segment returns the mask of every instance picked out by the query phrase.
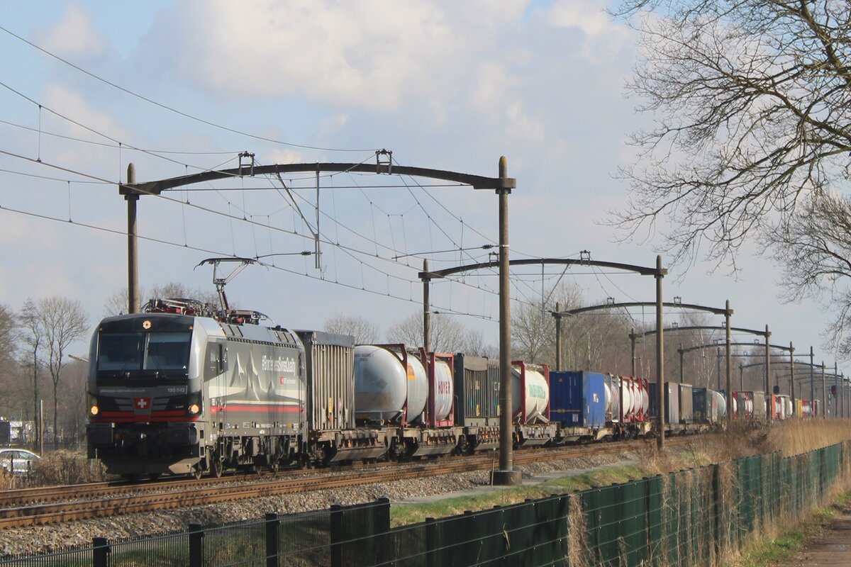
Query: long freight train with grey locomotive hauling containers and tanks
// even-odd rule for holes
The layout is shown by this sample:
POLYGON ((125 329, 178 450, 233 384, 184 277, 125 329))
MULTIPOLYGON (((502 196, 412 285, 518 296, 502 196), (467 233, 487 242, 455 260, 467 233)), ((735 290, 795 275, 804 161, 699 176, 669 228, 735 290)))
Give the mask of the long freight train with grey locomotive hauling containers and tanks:
MULTIPOLYGON (((129 479, 220 476, 495 449, 495 360, 260 324, 190 300, 100 322, 89 354, 89 458, 129 479)), ((517 447, 653 433, 654 383, 512 363, 517 447)), ((665 383, 668 433, 711 427, 724 398, 665 383)))

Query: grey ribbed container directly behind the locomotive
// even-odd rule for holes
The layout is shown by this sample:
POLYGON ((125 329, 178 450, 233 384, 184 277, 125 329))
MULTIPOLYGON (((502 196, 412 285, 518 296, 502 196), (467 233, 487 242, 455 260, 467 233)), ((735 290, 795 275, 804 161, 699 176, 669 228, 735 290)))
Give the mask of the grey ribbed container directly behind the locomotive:
POLYGON ((309 427, 355 428, 355 337, 296 332, 305 343, 309 427))

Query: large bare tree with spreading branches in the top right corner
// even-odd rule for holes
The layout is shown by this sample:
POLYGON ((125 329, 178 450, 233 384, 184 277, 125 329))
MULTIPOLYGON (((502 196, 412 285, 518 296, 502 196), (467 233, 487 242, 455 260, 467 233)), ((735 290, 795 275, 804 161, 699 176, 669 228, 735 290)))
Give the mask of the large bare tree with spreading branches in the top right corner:
POLYGON ((700 253, 736 269, 771 213, 847 179, 851 3, 623 0, 620 15, 641 34, 629 89, 655 121, 621 170, 631 201, 609 220, 625 239, 665 216, 675 263, 700 253))

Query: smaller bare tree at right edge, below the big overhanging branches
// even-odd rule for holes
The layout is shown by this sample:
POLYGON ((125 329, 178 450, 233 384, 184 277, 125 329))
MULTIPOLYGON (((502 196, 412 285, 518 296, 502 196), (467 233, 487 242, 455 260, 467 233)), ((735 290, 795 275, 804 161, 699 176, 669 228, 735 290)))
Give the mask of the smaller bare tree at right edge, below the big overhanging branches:
POLYGON ((783 267, 785 299, 824 300, 831 311, 825 338, 843 358, 851 357, 851 199, 836 193, 809 196, 765 244, 783 267))

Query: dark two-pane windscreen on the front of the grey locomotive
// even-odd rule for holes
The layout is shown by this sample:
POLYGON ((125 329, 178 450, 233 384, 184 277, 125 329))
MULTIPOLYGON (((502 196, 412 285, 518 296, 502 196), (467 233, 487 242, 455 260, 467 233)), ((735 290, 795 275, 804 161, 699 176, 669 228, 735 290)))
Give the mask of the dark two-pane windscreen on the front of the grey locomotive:
POLYGON ((184 370, 191 332, 101 333, 98 370, 184 370))

